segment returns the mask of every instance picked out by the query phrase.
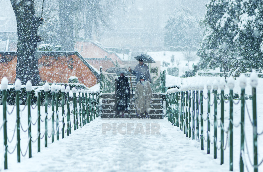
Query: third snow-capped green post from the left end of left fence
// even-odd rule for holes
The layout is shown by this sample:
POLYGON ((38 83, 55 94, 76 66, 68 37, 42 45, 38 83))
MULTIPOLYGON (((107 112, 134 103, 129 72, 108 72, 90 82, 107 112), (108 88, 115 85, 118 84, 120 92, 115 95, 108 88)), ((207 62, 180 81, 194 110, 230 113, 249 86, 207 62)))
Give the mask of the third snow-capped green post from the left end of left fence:
POLYGON ((28 155, 29 158, 32 157, 32 137, 31 137, 31 90, 32 90, 32 83, 31 81, 27 81, 26 83, 26 92, 27 92, 27 114, 28 114, 28 155))

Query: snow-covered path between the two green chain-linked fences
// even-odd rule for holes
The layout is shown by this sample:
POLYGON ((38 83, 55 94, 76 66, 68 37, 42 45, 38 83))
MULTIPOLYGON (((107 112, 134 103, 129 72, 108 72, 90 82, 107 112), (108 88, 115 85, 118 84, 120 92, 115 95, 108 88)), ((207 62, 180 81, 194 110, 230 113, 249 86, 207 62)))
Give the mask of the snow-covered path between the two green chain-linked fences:
POLYGON ((167 118, 99 117, 5 171, 228 171, 228 165, 219 165, 167 118))

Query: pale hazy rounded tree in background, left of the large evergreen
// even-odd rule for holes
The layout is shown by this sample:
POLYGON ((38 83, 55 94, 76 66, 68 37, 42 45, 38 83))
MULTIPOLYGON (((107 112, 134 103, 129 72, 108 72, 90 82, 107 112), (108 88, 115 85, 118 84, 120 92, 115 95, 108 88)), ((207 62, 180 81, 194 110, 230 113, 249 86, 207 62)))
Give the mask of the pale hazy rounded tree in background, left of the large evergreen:
POLYGON ((198 47, 201 38, 198 19, 189 8, 178 6, 170 15, 165 30, 165 46, 198 47))

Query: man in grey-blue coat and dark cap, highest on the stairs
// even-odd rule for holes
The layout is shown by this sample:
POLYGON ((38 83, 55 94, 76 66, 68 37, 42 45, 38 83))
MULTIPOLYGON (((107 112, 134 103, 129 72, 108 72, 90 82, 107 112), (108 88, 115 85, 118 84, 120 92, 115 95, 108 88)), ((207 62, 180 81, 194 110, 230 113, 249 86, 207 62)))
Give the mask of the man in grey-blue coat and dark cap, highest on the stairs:
POLYGON ((132 75, 135 75, 136 83, 140 81, 141 75, 144 75, 145 81, 151 82, 149 67, 145 63, 143 63, 143 59, 139 59, 139 64, 136 65, 134 70, 129 68, 129 71, 131 72, 132 75))

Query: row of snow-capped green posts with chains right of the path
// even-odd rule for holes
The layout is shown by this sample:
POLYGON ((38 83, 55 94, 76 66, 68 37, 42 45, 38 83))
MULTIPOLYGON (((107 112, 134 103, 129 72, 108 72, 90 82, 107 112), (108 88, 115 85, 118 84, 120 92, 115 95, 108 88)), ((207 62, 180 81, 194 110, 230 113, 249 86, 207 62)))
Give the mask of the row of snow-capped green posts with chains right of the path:
MULTIPOLYGON (((234 88, 234 78, 230 76, 228 78, 228 88, 229 88, 229 99, 225 99, 224 90, 226 87, 226 82, 224 78, 213 82, 213 99, 211 99, 211 89, 212 84, 210 81, 206 83, 207 95, 203 94, 204 84, 196 83, 194 85, 183 85, 180 90, 178 88, 171 88, 167 90, 166 94, 166 115, 168 121, 170 121, 174 126, 180 127, 183 130, 186 137, 192 137, 198 142, 201 142, 201 150, 204 150, 204 141, 207 142, 207 153, 210 153, 210 144, 214 145, 214 159, 217 158, 217 150, 220 150, 220 164, 224 163, 224 151, 226 146, 229 146, 229 169, 233 171, 233 126, 240 127, 240 171, 244 171, 244 166, 248 168, 254 168, 254 171, 258 170, 258 167, 263 163, 263 159, 258 162, 257 153, 257 137, 263 134, 263 131, 257 132, 257 112, 256 112, 256 86, 257 86, 258 76, 255 72, 250 75, 250 85, 252 87, 252 112, 249 111, 248 105, 245 98, 245 87, 246 87, 246 77, 244 74, 240 76, 240 88, 241 95, 240 100, 234 100, 233 98, 233 88, 234 88), (218 101, 217 90, 221 90, 220 101, 218 101), (203 98, 207 100, 207 114, 203 114, 203 98), (229 103, 229 123, 224 123, 224 105, 229 103), (241 103, 241 120, 234 123, 233 119, 233 103, 238 105, 241 103), (220 105, 221 114, 218 118, 218 108, 220 105), (214 107, 214 111, 210 113, 210 108, 214 107), (246 109, 246 110, 245 110, 246 109), (179 112, 180 111, 180 112, 179 112), (247 114, 247 121, 245 121, 245 112, 247 114), (250 113, 252 115, 250 115, 250 113), (204 134, 204 122, 207 122, 207 135, 204 134), (211 122, 211 123, 210 123, 211 122), (253 132, 253 154, 254 162, 250 158, 248 142, 245 134, 245 122, 248 125, 251 124, 253 132), (214 133, 210 133, 210 127, 214 133), (220 129, 220 139, 218 140, 217 129, 220 129), (226 138, 226 140, 224 140, 226 138), (228 144, 227 144, 228 143, 228 144), (244 155, 244 152, 248 156, 244 155), (249 165, 251 165, 249 167, 249 165)), ((236 134, 236 133, 235 133, 236 134)), ((239 134, 239 133, 237 133, 239 134)), ((248 136, 248 135, 247 135, 248 136)))

